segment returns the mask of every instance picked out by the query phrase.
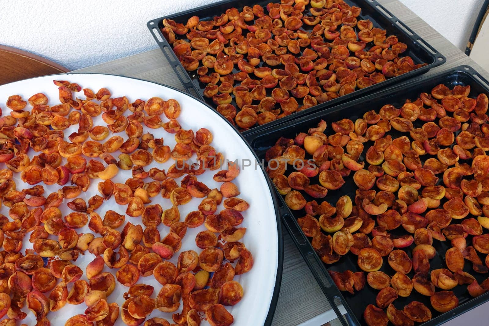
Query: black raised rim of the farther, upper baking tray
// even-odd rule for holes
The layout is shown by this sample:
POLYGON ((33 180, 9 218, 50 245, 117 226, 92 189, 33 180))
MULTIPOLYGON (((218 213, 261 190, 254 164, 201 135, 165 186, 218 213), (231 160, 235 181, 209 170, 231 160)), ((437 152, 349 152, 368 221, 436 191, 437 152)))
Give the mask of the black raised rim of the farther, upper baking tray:
MULTIPOLYGON (((193 80, 190 78, 190 74, 192 72, 186 71, 183 68, 183 65, 180 64, 180 61, 178 60, 177 55, 175 54, 175 52, 173 52, 171 44, 168 43, 166 38, 161 33, 161 30, 158 28, 158 23, 161 22, 163 19, 173 19, 173 18, 176 18, 178 16, 191 14, 191 13, 194 13, 194 12, 197 12, 200 10, 212 9, 212 8, 218 7, 222 4, 226 4, 227 2, 229 2, 229 0, 222 0, 222 1, 214 2, 214 3, 206 4, 206 5, 194 8, 194 9, 188 9, 188 10, 185 10, 182 12, 177 12, 174 14, 170 14, 170 15, 163 16, 160 18, 156 18, 156 19, 150 20, 149 22, 146 23, 146 26, 148 27, 151 35, 153 36, 153 38, 155 39, 156 43, 158 44, 160 50, 163 52, 164 56, 168 60, 172 69, 175 71, 175 74, 177 75, 178 79, 182 83, 185 90, 187 92, 191 93, 192 95, 199 97, 202 100, 204 100, 204 97, 203 97, 203 94, 200 94, 200 92, 198 91, 199 87, 197 87, 197 85, 196 85, 196 80, 193 80), (154 29, 156 29, 157 34, 155 34, 154 29), (161 39, 161 41, 160 41, 160 39, 161 39)), ((428 55, 429 57, 431 57, 433 59, 433 62, 428 64, 428 65, 422 66, 421 68, 409 71, 409 72, 402 74, 400 76, 396 76, 396 77, 387 79, 381 83, 374 84, 370 87, 357 89, 353 93, 340 96, 338 98, 335 98, 333 100, 330 100, 330 101, 327 101, 327 102, 324 102, 321 104, 317 104, 311 108, 308 108, 308 109, 305 109, 302 111, 294 112, 294 113, 292 113, 286 117, 268 122, 265 125, 252 127, 251 129, 245 130, 245 131, 240 132, 240 133, 247 135, 247 134, 254 132, 255 130, 265 130, 265 129, 268 129, 268 128, 273 127, 273 126, 277 126, 277 125, 281 124, 282 122, 290 122, 293 119, 297 119, 298 117, 307 116, 307 115, 310 115, 310 114, 317 112, 317 111, 320 111, 320 110, 329 109, 329 108, 332 108, 333 106, 340 105, 341 103, 345 103, 347 101, 354 100, 358 97, 367 95, 369 93, 379 91, 379 89, 382 89, 381 86, 383 86, 383 88, 394 87, 394 86, 398 85, 399 83, 401 83, 407 79, 414 78, 415 76, 419 76, 423 73, 428 72, 432 68, 435 68, 437 66, 440 66, 440 65, 443 65, 446 63, 446 58, 444 55, 442 55, 438 50, 436 50, 431 44, 427 43, 424 39, 422 39, 422 37, 420 37, 417 33, 415 33, 404 22, 400 21, 400 19, 398 19, 396 16, 394 16, 384 6, 382 6, 380 3, 378 3, 377 0, 367 0, 365 2, 368 5, 370 5, 372 7, 372 9, 375 10, 379 15, 382 15, 385 19, 390 21, 395 28, 399 29, 400 33, 402 33, 406 37, 410 38, 412 40, 412 42, 417 43, 420 46, 420 48, 422 48, 422 51, 424 51, 426 55, 428 55), (427 48, 429 48, 430 51, 428 51, 427 48), (431 51, 433 51, 434 53, 432 53, 431 51)))

